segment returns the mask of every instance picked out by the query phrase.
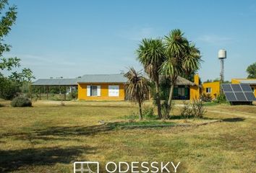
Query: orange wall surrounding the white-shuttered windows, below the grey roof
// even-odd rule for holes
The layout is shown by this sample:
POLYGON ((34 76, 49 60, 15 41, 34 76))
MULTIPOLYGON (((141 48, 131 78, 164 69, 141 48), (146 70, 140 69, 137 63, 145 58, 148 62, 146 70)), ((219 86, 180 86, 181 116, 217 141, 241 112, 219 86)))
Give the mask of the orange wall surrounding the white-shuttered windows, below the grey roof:
POLYGON ((78 84, 78 99, 80 100, 124 100, 124 84, 78 84), (100 85, 101 96, 87 96, 88 85, 100 85), (108 97, 108 85, 119 85, 119 97, 108 97))

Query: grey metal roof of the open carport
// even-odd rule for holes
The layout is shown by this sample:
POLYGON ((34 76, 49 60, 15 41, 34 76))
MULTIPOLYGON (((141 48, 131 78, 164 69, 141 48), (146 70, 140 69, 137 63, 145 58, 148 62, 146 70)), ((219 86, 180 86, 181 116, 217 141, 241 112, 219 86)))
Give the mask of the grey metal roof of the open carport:
POLYGON ((72 86, 77 85, 77 79, 38 79, 33 86, 72 86))

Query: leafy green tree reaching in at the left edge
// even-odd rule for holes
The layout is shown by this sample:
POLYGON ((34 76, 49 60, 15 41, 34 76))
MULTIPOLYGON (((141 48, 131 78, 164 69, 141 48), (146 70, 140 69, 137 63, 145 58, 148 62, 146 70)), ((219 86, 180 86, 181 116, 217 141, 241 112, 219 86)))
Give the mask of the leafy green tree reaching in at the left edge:
POLYGON ((20 58, 3 57, 3 53, 11 48, 11 45, 4 43, 4 37, 7 37, 17 18, 16 6, 9 6, 7 0, 0 0, 0 16, 0 97, 9 99, 18 92, 18 86, 33 79, 33 74, 29 68, 22 69, 20 73, 14 71, 14 68, 20 67, 20 58), (4 76, 4 71, 8 71, 9 76, 4 76))

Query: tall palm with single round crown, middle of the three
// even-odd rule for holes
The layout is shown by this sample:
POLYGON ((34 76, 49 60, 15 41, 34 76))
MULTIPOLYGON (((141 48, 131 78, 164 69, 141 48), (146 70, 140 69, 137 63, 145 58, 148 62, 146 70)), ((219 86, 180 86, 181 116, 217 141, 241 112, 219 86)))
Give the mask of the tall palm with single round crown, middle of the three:
POLYGON ((158 118, 162 118, 161 99, 159 96, 159 71, 165 59, 163 42, 161 39, 143 39, 137 49, 137 59, 142 63, 145 72, 155 83, 155 102, 158 106, 158 118))

